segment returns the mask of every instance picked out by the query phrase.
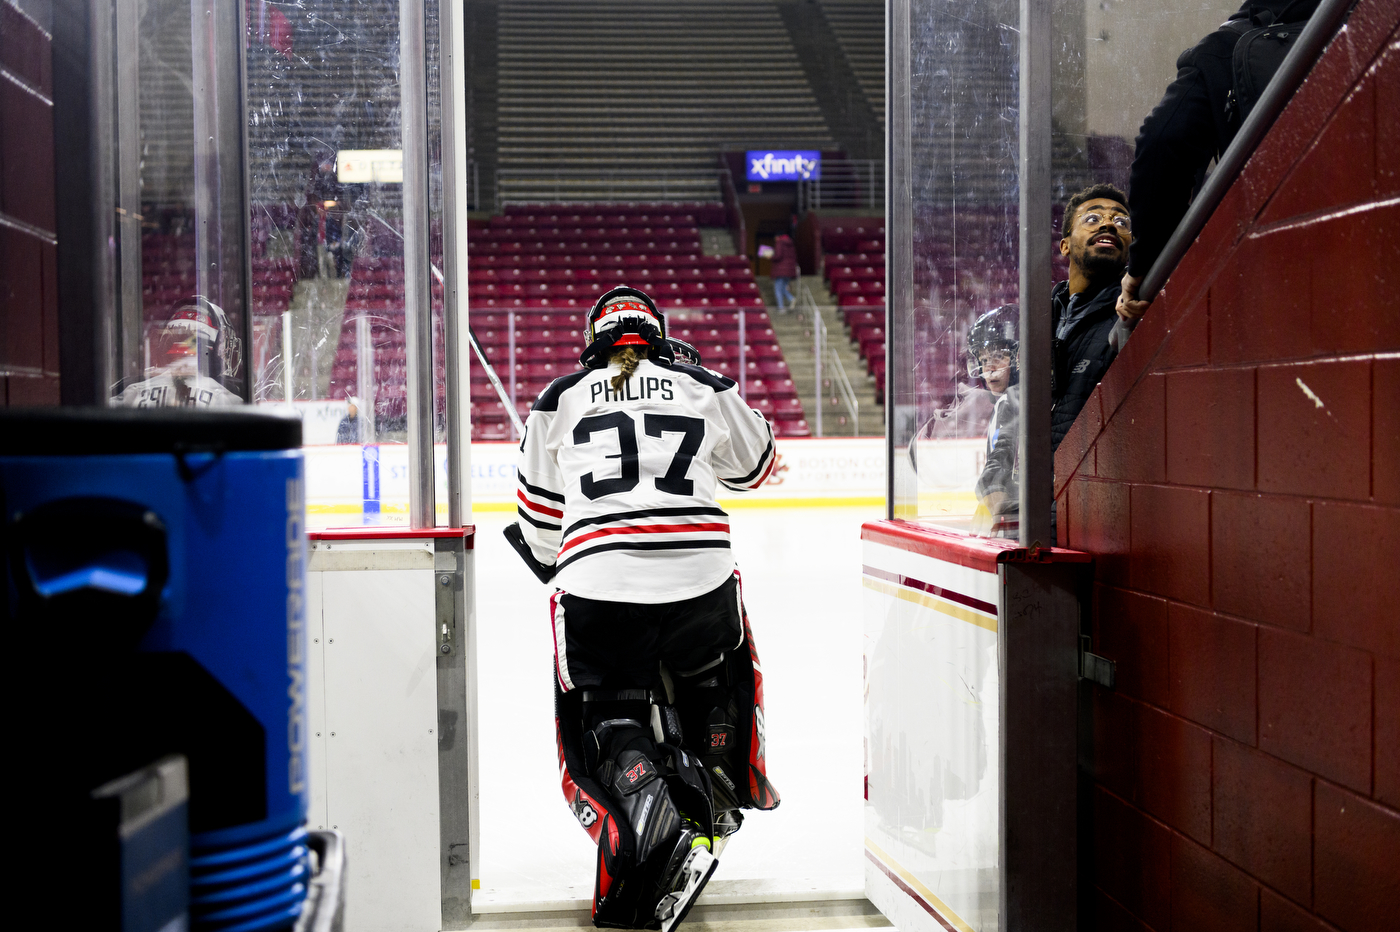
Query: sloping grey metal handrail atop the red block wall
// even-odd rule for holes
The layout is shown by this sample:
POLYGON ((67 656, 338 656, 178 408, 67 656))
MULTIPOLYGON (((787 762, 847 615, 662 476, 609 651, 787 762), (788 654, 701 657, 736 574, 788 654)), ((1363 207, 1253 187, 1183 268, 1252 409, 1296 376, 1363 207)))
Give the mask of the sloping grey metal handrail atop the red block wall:
POLYGON ((1219 206, 1229 186, 1235 183, 1239 172, 1245 168, 1245 162, 1254 154, 1259 143, 1274 125, 1274 120, 1278 119, 1284 106, 1292 99, 1294 91, 1308 77, 1308 71, 1312 70, 1317 56, 1322 55, 1329 39, 1336 35, 1337 28, 1347 18, 1355 1, 1322 0, 1317 10, 1313 11, 1312 18, 1308 20, 1308 25, 1303 27, 1302 34, 1298 36, 1298 42, 1288 52, 1282 64, 1278 66, 1278 71, 1274 73, 1268 87, 1264 88, 1259 104, 1250 111, 1249 119, 1239 127, 1239 133, 1235 134, 1229 148, 1221 155, 1215 171, 1211 172, 1196 200, 1191 202, 1191 207, 1182 217, 1182 223, 1176 225, 1176 232, 1166 241, 1162 253, 1152 263, 1147 276, 1142 277, 1142 284, 1138 287, 1140 298, 1151 301, 1162 290, 1162 285, 1166 284, 1166 277, 1172 274, 1182 256, 1196 242, 1196 236, 1205 227, 1205 221, 1210 220, 1215 207, 1219 206))

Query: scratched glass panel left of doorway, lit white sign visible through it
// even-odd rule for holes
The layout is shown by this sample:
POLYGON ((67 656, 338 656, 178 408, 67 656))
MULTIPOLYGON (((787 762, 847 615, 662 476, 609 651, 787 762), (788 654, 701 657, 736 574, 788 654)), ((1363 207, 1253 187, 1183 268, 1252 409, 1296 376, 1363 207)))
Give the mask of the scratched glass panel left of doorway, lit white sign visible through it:
MULTIPOLYGON (((442 269, 437 3, 426 4, 430 259, 442 269)), ((399 3, 248 6, 253 400, 344 445, 356 483, 314 488, 314 526, 403 523, 407 355, 399 3), (351 411, 351 407, 354 409, 351 411), (342 487, 343 486, 343 487, 342 487), (354 487, 351 487, 354 486, 354 487), (319 493, 319 494, 318 494, 319 493)), ((434 434, 445 439, 442 284, 431 277, 434 434)), ((438 453, 440 511, 445 507, 438 453)), ((335 470, 343 474, 347 470, 335 470)), ((315 486, 316 476, 308 481, 315 486)))

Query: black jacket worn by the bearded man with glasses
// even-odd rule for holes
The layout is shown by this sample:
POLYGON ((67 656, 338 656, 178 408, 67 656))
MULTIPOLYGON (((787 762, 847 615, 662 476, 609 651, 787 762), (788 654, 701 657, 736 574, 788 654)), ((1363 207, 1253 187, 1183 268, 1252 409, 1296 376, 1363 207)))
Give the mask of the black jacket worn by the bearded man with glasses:
MULTIPOLYGON (((1079 417, 1084 403, 1089 400, 1093 386, 1103 379, 1109 365, 1119 351, 1109 346, 1109 332, 1119 319, 1114 305, 1119 298, 1119 283, 1109 280, 1102 285, 1089 285, 1085 297, 1089 304, 1082 318, 1065 334, 1065 339, 1051 337, 1050 341, 1050 448, 1058 449, 1060 441, 1070 432, 1074 418, 1079 417)), ((1070 308, 1070 283, 1054 287, 1050 299, 1050 333, 1060 330, 1060 320, 1070 308)))

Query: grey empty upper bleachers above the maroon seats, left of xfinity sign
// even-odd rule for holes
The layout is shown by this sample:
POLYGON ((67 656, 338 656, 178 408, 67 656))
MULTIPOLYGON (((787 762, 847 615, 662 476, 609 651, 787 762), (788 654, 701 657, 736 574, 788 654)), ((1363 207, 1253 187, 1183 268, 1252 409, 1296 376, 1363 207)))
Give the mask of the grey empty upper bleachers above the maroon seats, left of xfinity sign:
POLYGON ((836 148, 773 3, 501 0, 500 199, 715 200, 715 153, 836 148))

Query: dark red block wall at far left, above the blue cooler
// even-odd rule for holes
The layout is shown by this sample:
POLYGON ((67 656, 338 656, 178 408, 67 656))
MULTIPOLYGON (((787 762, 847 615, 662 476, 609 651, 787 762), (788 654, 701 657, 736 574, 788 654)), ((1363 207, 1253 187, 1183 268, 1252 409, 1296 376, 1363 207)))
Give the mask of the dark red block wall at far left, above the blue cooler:
POLYGON ((59 403, 49 46, 0 0, 0 404, 59 403))

